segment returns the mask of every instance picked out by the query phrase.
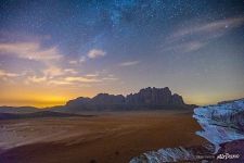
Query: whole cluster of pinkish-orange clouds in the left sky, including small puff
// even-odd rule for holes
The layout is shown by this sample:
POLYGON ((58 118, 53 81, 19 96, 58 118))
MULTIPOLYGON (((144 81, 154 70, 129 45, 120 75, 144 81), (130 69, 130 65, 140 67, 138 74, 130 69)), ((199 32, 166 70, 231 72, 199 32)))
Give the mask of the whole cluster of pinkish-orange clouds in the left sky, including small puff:
MULTIPOLYGON (((63 63, 78 64, 84 63, 88 59, 97 59, 104 57, 105 51, 100 49, 92 49, 87 55, 81 55, 77 60, 64 60, 64 57, 59 52, 56 47, 42 48, 38 41, 22 41, 22 42, 0 42, 0 57, 11 57, 14 59, 24 59, 27 61, 37 61, 38 68, 26 67, 30 71, 23 70, 24 73, 15 74, 0 70, 0 77, 8 79, 8 77, 18 77, 24 84, 38 85, 74 85, 77 83, 82 85, 90 85, 105 80, 115 80, 115 77, 110 77, 103 71, 92 74, 80 75, 80 71, 63 63)), ((31 66, 33 64, 30 64, 31 66)))

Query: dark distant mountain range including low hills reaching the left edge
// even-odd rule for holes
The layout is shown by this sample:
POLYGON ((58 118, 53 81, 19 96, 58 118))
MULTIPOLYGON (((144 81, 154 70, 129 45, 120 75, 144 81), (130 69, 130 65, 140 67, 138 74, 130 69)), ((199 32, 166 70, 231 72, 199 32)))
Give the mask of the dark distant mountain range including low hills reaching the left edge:
MULTIPOLYGON (((67 101, 65 105, 46 108, 42 111, 82 113, 89 111, 179 110, 193 109, 195 106, 185 104, 183 98, 177 93, 171 93, 168 87, 147 87, 126 97, 108 93, 99 93, 93 98, 79 97, 67 101)), ((0 113, 26 114, 37 111, 40 112, 39 109, 33 106, 0 106, 0 113)))

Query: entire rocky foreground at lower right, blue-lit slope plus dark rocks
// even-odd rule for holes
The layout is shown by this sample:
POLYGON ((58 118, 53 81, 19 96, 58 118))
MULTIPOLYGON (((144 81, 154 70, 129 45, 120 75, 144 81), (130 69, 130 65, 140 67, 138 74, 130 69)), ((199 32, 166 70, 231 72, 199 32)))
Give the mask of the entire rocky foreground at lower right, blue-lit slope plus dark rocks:
POLYGON ((202 127, 196 135, 209 143, 149 151, 130 163, 244 162, 244 99, 197 108, 193 117, 202 127))

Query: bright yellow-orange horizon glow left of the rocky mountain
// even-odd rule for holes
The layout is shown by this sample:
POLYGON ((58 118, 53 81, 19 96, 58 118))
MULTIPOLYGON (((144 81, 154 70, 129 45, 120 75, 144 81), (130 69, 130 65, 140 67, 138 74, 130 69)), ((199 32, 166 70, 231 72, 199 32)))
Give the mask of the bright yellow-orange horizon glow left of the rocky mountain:
POLYGON ((92 97, 93 91, 86 89, 66 89, 42 85, 21 86, 5 85, 0 92, 0 105, 47 108, 64 105, 77 97, 92 97))

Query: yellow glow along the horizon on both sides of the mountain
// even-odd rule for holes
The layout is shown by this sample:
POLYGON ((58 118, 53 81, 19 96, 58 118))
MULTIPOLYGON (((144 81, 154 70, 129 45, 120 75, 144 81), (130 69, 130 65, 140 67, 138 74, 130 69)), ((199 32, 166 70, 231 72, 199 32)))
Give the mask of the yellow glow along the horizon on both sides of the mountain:
MULTIPOLYGON (((118 89, 113 91, 111 88, 105 87, 88 87, 76 88, 70 87, 47 87, 41 85, 21 86, 21 85, 5 85, 0 92, 0 105, 9 106, 37 106, 47 108, 54 105, 64 105, 68 100, 76 99, 78 97, 94 97, 99 92, 107 92, 113 95, 119 95, 123 90, 118 89)), ((139 90, 127 90, 123 95, 126 96, 130 92, 137 92, 139 90)), ((177 92, 177 91, 176 91, 177 92)), ((221 92, 182 92, 180 93, 183 100, 188 104, 215 104, 219 101, 240 99, 243 93, 230 93, 223 95, 221 92)))

